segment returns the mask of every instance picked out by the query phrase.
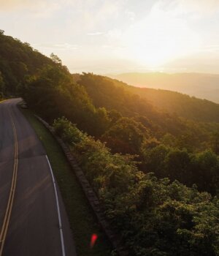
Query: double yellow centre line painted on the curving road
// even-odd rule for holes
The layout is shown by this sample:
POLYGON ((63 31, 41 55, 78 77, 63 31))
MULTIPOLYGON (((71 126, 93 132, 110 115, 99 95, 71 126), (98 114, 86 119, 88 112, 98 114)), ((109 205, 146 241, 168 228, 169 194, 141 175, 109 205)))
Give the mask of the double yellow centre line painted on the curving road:
POLYGON ((1 234, 0 234, 0 256, 2 255, 3 248, 4 248, 4 241, 7 235, 7 230, 9 226, 9 219, 12 214, 12 205, 15 197, 15 187, 16 187, 16 181, 17 181, 17 174, 18 174, 18 138, 17 138, 17 132, 15 129, 15 123, 12 118, 11 110, 9 110, 9 116, 12 121, 12 128, 14 133, 14 140, 15 140, 15 155, 14 155, 14 169, 13 169, 13 176, 12 176, 12 185, 9 192, 9 200, 7 203, 7 209, 4 215, 4 222, 1 227, 1 234))

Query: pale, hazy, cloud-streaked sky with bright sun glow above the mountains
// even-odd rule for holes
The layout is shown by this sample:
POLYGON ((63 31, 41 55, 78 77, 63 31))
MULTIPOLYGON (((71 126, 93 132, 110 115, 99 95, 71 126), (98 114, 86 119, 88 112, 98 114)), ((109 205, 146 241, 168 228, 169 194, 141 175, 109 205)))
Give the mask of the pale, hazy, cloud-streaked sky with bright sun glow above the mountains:
POLYGON ((219 73, 219 0, 0 0, 0 29, 71 72, 219 73))

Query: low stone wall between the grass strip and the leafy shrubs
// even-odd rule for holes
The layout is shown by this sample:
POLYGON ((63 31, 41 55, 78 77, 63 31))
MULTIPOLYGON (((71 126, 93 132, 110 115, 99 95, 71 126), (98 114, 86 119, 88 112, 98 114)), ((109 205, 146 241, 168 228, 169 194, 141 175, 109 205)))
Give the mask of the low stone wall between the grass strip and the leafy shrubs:
POLYGON ((91 187, 91 184, 89 183, 88 179, 85 177, 85 174, 83 173, 82 169, 77 165, 77 161, 72 156, 71 151, 69 150, 69 146, 67 146, 66 143, 64 143, 64 141, 61 140, 61 138, 55 135, 55 131, 53 127, 47 124, 47 122, 44 121, 39 116, 37 115, 35 116, 51 132, 55 140, 57 140, 58 144, 61 146, 62 150, 64 151, 64 154, 66 155, 66 158, 68 159, 69 164, 72 167, 72 170, 74 170, 74 173, 77 176, 77 180, 80 182, 80 185, 83 191, 85 192, 88 202, 93 208, 94 214, 96 215, 102 229, 104 230, 104 233, 106 233, 107 238, 110 240, 113 248, 117 250, 118 255, 128 256, 129 253, 121 243, 120 236, 118 236, 118 234, 116 234, 115 231, 112 230, 109 222, 107 222, 107 219, 104 216, 104 211, 101 209, 101 204, 99 203, 99 199, 96 196, 96 193, 93 191, 93 188, 91 187))

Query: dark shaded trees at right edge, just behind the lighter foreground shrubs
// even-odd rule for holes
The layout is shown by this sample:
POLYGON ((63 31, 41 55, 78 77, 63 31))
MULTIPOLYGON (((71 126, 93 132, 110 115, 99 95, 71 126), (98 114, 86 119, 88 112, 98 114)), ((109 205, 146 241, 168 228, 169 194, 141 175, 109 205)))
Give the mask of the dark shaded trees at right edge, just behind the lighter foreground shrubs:
POLYGON ((200 191, 218 194, 219 157, 211 150, 189 154, 184 148, 172 148, 159 144, 142 149, 144 170, 153 170, 159 178, 169 178, 192 187, 196 184, 200 191))

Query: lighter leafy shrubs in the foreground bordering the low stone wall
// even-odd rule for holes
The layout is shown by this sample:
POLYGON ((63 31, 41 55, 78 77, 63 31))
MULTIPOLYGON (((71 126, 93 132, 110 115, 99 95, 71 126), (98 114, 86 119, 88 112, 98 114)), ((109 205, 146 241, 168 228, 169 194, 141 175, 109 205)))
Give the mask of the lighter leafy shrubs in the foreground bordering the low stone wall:
POLYGON ((111 154, 66 118, 53 126, 72 147, 131 255, 218 255, 216 197, 142 173, 130 155, 111 154))

